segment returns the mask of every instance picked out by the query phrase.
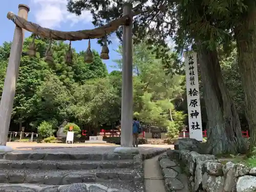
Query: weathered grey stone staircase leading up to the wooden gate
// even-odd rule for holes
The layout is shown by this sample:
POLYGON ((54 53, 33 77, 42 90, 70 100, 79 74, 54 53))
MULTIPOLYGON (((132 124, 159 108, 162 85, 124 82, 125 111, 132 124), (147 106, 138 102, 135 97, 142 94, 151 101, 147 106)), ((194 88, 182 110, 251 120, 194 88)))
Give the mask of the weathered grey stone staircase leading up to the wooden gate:
POLYGON ((134 154, 0 154, 0 191, 141 191, 138 166, 142 158, 134 154))

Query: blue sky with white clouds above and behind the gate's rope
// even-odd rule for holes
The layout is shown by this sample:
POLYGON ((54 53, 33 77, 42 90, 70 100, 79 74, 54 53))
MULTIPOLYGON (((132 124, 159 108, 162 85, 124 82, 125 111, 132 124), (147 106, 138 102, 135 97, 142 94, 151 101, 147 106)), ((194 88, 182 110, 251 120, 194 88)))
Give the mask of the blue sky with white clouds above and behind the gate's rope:
MULTIPOLYGON (((60 31, 77 31, 94 28, 91 23, 91 13, 84 11, 81 16, 69 13, 66 8, 66 0, 5 0, 1 1, 2 6, 0 7, 0 24, 2 26, 0 45, 5 41, 12 41, 15 25, 6 17, 6 15, 8 11, 17 14, 19 4, 28 5, 30 7, 28 20, 37 23, 42 27, 60 31)), ((28 37, 30 34, 30 32, 26 32, 25 37, 28 37)), ((120 58, 120 55, 114 51, 117 49, 119 41, 115 35, 111 37, 111 40, 113 43, 109 46, 110 59, 103 60, 103 62, 106 63, 109 72, 115 70, 111 68, 111 66, 115 65, 112 60, 120 58)), ((88 40, 73 41, 72 47, 75 48, 77 52, 86 50, 88 47, 88 40)), ((100 53, 101 47, 97 44, 96 39, 91 40, 91 47, 100 53)))

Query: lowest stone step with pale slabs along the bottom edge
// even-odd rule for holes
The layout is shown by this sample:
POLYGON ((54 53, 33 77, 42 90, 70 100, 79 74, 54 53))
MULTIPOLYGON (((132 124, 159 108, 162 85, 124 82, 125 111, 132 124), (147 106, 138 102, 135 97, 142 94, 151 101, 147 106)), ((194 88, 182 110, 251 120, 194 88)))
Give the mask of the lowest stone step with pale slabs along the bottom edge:
POLYGON ((1 192, 133 192, 132 183, 74 183, 69 185, 36 185, 0 183, 1 192))

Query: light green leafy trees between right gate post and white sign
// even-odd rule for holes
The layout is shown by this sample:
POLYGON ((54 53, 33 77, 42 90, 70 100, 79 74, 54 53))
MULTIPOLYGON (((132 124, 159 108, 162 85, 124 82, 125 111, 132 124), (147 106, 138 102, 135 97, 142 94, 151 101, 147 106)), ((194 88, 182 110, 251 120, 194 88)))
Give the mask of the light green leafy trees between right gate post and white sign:
MULTIPOLYGON (((120 47, 117 52, 122 53, 120 47)), ((122 60, 116 62, 121 69, 122 60)), ((183 76, 166 73, 164 62, 143 43, 134 47, 133 68, 134 116, 143 124, 165 127, 169 137, 177 137, 186 117, 174 106, 183 94, 183 76)))

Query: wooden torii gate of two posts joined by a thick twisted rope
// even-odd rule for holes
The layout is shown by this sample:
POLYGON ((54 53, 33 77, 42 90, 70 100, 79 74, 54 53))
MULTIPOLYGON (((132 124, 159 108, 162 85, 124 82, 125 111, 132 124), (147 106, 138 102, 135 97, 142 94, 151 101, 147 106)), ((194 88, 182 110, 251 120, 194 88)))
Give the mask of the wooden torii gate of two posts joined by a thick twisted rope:
MULTIPOLYGON (((12 20, 16 25, 14 37, 11 46, 8 68, 4 83, 4 89, 0 104, 0 146, 5 146, 10 126, 13 101, 15 96, 16 81, 18 77, 18 69, 20 57, 22 54, 24 30, 30 31, 41 37, 55 40, 82 40, 100 38, 106 34, 116 31, 118 27, 123 26, 123 65, 122 65, 122 109, 121 109, 121 148, 132 150, 132 121, 133 121, 133 41, 132 41, 132 26, 133 17, 140 14, 142 11, 133 12, 132 4, 125 3, 123 5, 123 16, 113 20, 109 24, 98 27, 92 30, 81 30, 63 32, 48 28, 43 28, 35 23, 28 22, 28 12, 30 8, 27 5, 20 4, 18 6, 18 15, 8 12, 7 18, 12 20)), ((135 148, 132 150, 137 153, 135 148)), ((123 153, 120 148, 117 153, 123 153)))

